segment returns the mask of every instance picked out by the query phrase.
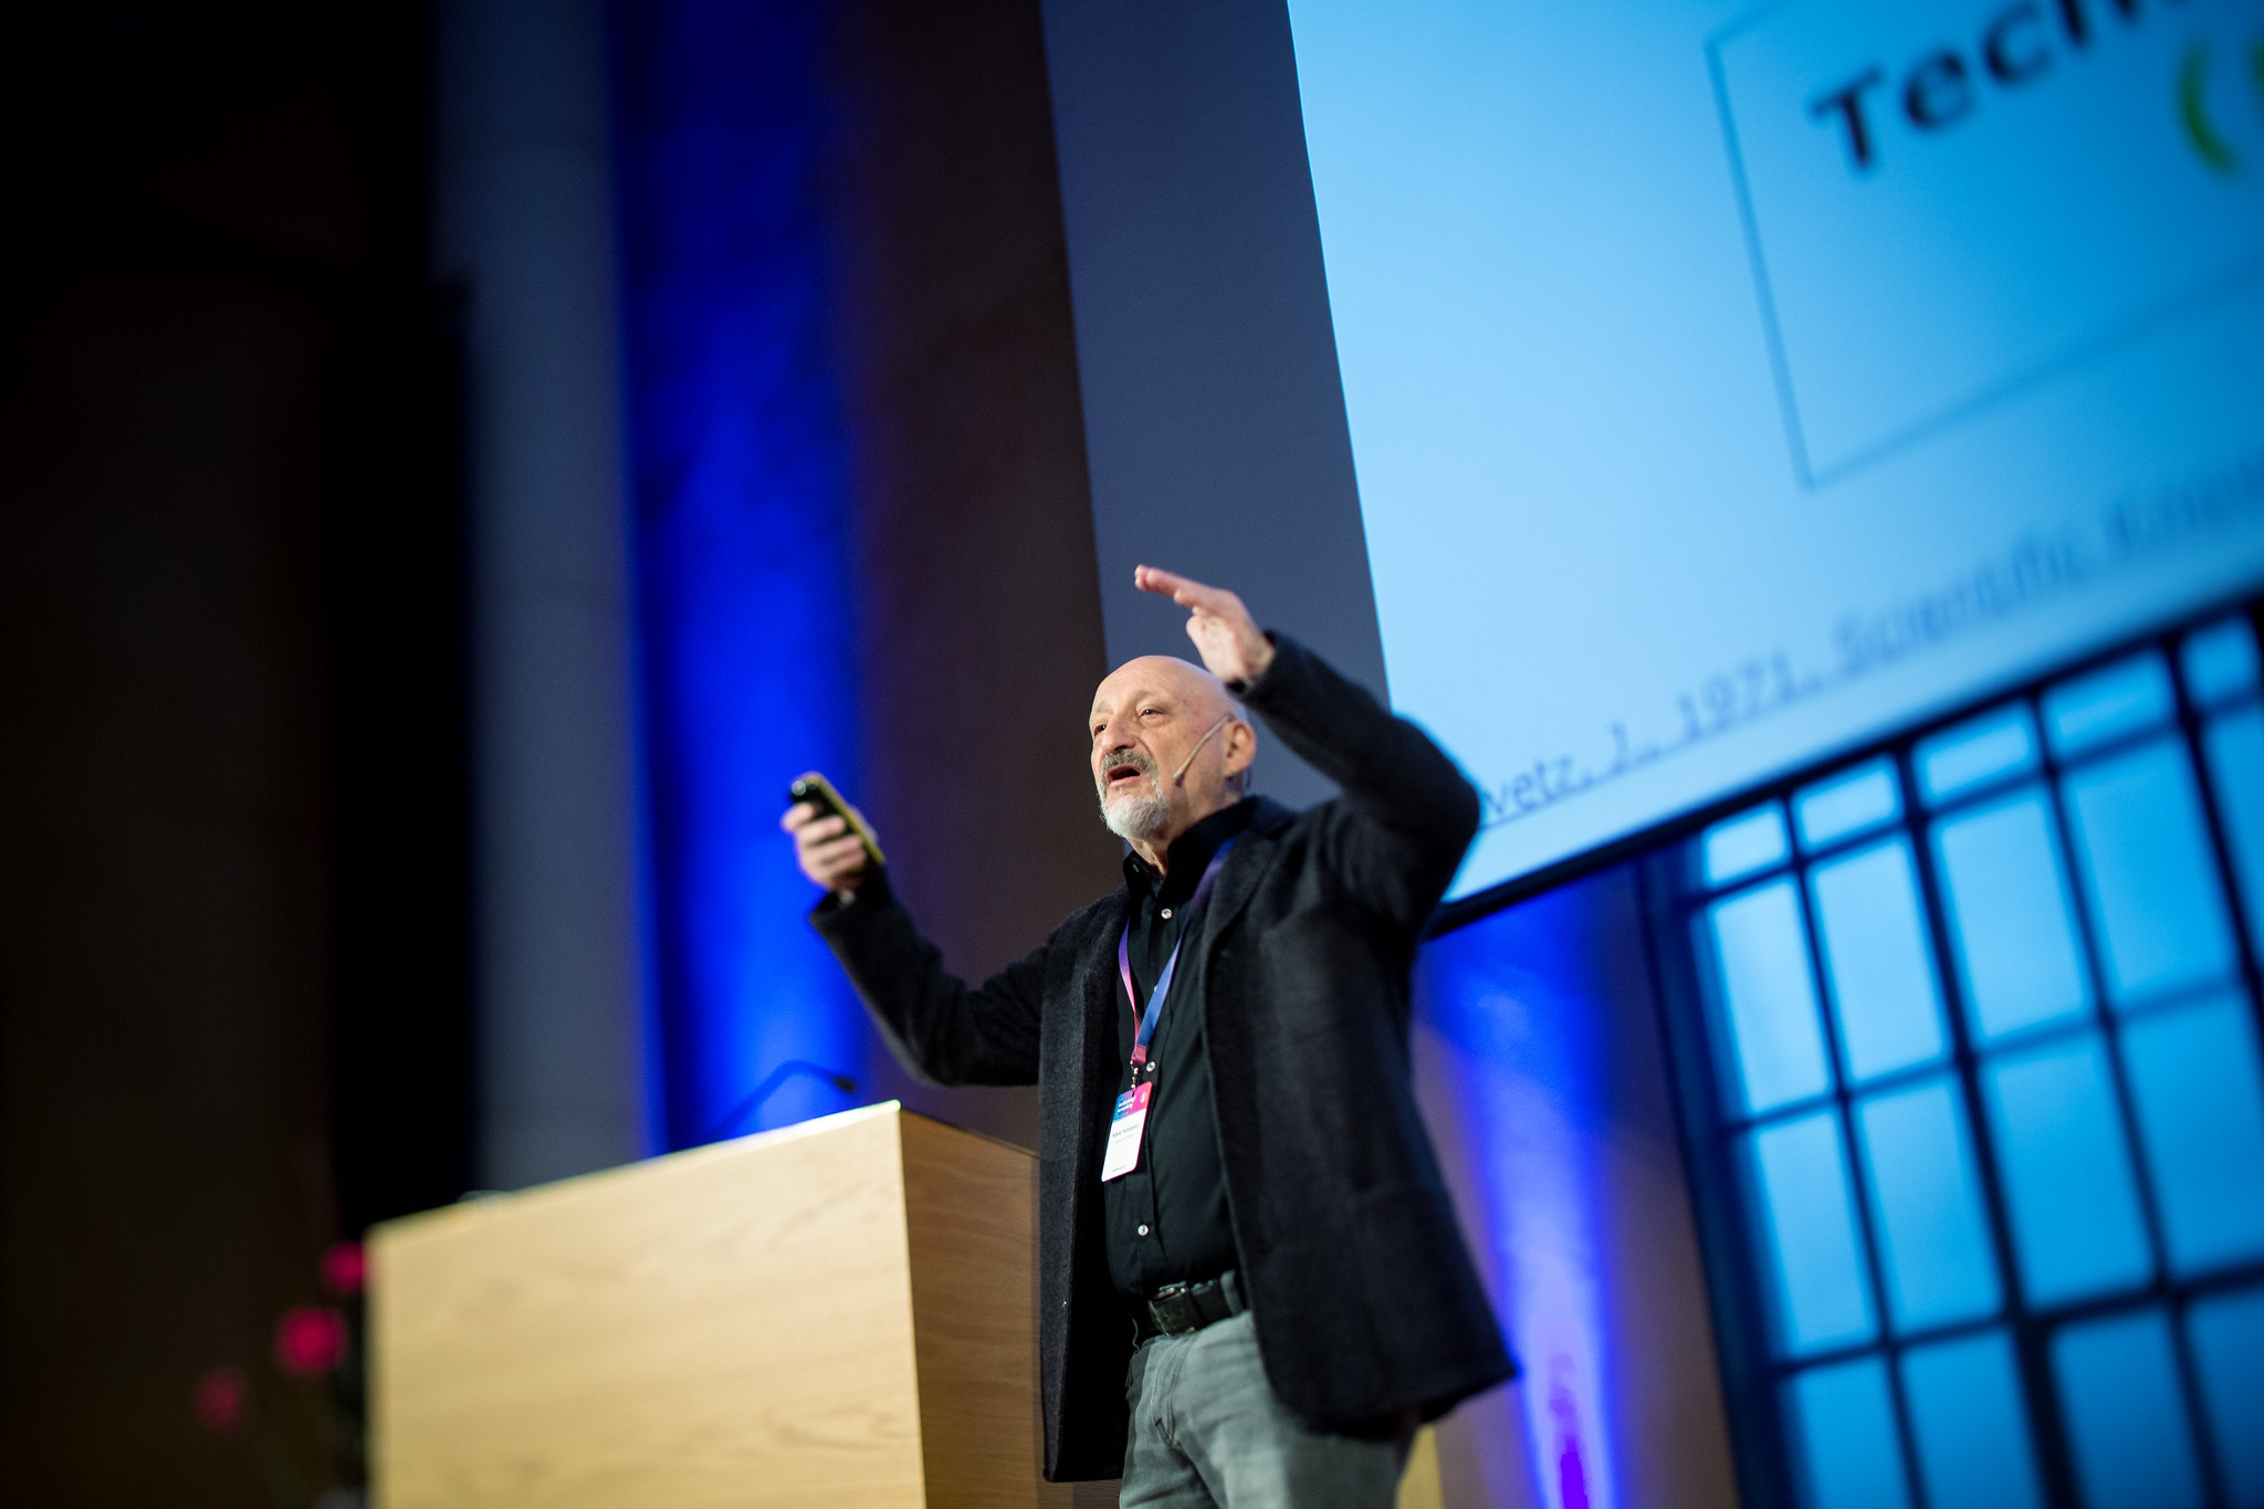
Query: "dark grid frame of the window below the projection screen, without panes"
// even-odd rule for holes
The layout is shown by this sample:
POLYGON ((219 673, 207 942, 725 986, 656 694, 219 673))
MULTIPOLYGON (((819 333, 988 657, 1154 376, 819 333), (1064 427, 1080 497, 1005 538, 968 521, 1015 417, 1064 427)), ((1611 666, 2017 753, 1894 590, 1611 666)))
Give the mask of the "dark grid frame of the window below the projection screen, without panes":
MULTIPOLYGON (((2051 1507, 2083 1509, 2085 1498, 2078 1486, 2078 1468, 2072 1457, 2069 1425, 2058 1403, 2053 1385, 2051 1344, 2063 1328, 2092 1319, 2142 1317, 2160 1312, 2169 1317, 2169 1335, 2176 1348, 2176 1371, 2182 1389, 2185 1416, 2189 1423, 2196 1459, 2203 1477, 2203 1502, 2210 1509, 2230 1504, 2221 1477, 2223 1446, 2214 1441, 2207 1412, 2201 1403, 2201 1380, 2192 1355, 2187 1310, 2203 1299, 2264 1292, 2264 1258, 2248 1258, 2237 1265, 2221 1265, 2205 1274, 2180 1276, 2169 1260, 2160 1199, 2153 1188, 2153 1172, 2137 1133, 2133 1090, 2124 1066, 2121 1036, 2133 1023, 2158 1018, 2180 1004, 2207 1000, 2237 986, 2246 995, 2248 1020, 2264 1041, 2264 962, 2257 952, 2257 930, 2248 923, 2239 873, 2232 862, 2226 819, 2219 810, 2216 781, 2203 744, 2203 728, 2212 715, 2235 713, 2264 701, 2264 690, 2250 688, 2230 699, 2216 699, 2207 708, 2198 706, 2187 685, 2180 647, 2189 633, 2205 631, 2228 618, 2246 620, 2253 636, 2264 645, 2264 600, 2237 606, 2221 606, 2176 624, 2158 636, 2126 640, 2108 652, 2058 665, 2047 676, 2024 685, 2001 690, 1988 699, 1956 708, 1904 735, 1868 747, 1859 753, 1802 769, 1784 781, 1743 794, 1734 803, 1707 812, 1703 826, 1684 828, 1687 837, 1650 851, 1641 864, 1644 905, 1660 1007, 1669 1038, 1669 1061, 1673 1072, 1675 1102, 1682 1122, 1684 1158, 1691 1174, 1693 1215, 1705 1253, 1707 1285, 1714 1310, 1716 1353, 1730 1405, 1732 1446, 1736 1452, 1741 1498, 1748 1509, 1804 1507, 1795 1464, 1795 1434, 1786 1419, 1786 1391, 1793 1376, 1832 1366, 1836 1362, 1879 1357, 1886 1360, 1886 1380, 1893 1398, 1893 1419, 1902 1475, 1909 1502, 1927 1509, 1927 1489, 1920 1473, 1913 1441, 1911 1412, 1904 1398, 1902 1355, 1913 1346, 1929 1346, 1956 1337, 2004 1333, 2013 1339, 2019 1376, 2022 1403, 2026 1405, 2033 1437, 2033 1457, 2042 1502, 2051 1507), (2065 688, 2092 672, 2112 667, 2133 656, 2153 652, 2169 667, 2173 688, 2173 713, 2169 722, 2146 724, 2117 738, 2083 747, 2063 756, 2047 733, 2044 697, 2053 688, 2065 688), (1929 738, 1961 724, 1988 717, 2004 708, 2026 708, 2035 735, 2035 765, 2029 774, 1983 781, 1970 790, 1929 803, 1920 790, 1915 751, 1929 738), (2106 964, 2101 959, 2099 921, 2085 894, 2083 871, 2074 853, 2065 778, 2101 760, 2139 749, 2164 735, 2176 735, 2182 749, 2207 828, 2210 860, 2228 909, 2230 930, 2237 946, 2237 964, 2230 980, 2201 986, 2182 986, 2142 1004, 2119 1009, 2110 1000, 2106 964), (1888 762, 1897 785, 1897 812, 1890 819, 1843 833, 1825 844, 1809 846, 1800 837, 1800 812, 1795 792, 1813 790, 1866 765, 1888 762), (2040 790, 2047 796, 2051 817, 2051 842, 2056 860, 2069 887, 2069 916, 2074 921, 2085 986, 2090 991, 2087 1011, 2053 1025, 2019 1032, 1988 1050, 1974 1043, 1972 1011, 1965 1000, 1965 980, 1958 966, 1956 941, 1945 907, 1940 878, 1940 855, 1933 830, 1938 824, 2001 801, 2013 792, 2040 790), (1709 878, 1707 839, 1718 830, 1750 819, 1761 808, 1775 805, 1782 814, 1791 842, 1786 853, 1761 866, 1748 866, 1718 880, 1709 878), (1949 1036, 1949 1052, 1918 1066, 1904 1066, 1866 1081, 1850 1084, 1847 1057, 1841 1043, 1841 1027, 1832 1009, 1832 984, 1820 948, 1823 930, 1818 919, 1816 887, 1811 871, 1875 846, 1890 835, 1902 835, 1915 862, 1920 905, 1924 909, 1924 932, 1931 948, 1931 966, 1949 1036), (1750 894, 1775 880, 1791 878, 1800 900, 1800 921, 1807 939, 1809 989, 1818 1002, 1818 1020, 1825 1034, 1825 1054, 1832 1066, 1829 1090, 1773 1106, 1748 1115, 1739 1100, 1739 1077, 1727 1061, 1725 1007, 1709 984, 1712 959, 1707 946, 1707 907, 1750 894), (2006 1206, 2006 1185, 1999 1170, 1999 1149, 1983 1104, 1981 1063, 2022 1054, 2051 1043, 2096 1041, 2108 1047, 2110 1086, 2117 1127, 2139 1188, 2139 1208, 2151 1258, 2151 1278, 2139 1287, 2121 1287, 2108 1294, 2056 1305, 2033 1305, 2022 1292, 2019 1256, 2013 1244, 2013 1224, 2006 1206), (1913 1326, 1902 1330, 1893 1323, 1893 1305, 1886 1294, 1886 1267, 1881 1265, 1881 1235, 1877 1231, 1875 1190, 1861 1149, 1854 1145, 1852 1118, 1861 1100, 1904 1086, 1918 1086, 1947 1077, 1965 1113, 1967 1154, 1976 1165, 1981 1206, 1988 1242, 1997 1262, 1999 1305, 1981 1319, 1958 1319, 1938 1326, 1913 1326), (1866 1296, 1872 1314, 1872 1335, 1859 1344, 1807 1351, 1798 1357, 1784 1355, 1780 1346, 1780 1323, 1770 1294, 1770 1267, 1775 1262, 1761 1235, 1755 1174, 1741 1154, 1748 1131, 1770 1124, 1789 1124, 1829 1106, 1841 1156, 1852 1176, 1852 1206, 1856 1217, 1859 1247, 1863 1258, 1866 1296)), ((2259 649, 2264 654, 2264 649, 2259 649)))

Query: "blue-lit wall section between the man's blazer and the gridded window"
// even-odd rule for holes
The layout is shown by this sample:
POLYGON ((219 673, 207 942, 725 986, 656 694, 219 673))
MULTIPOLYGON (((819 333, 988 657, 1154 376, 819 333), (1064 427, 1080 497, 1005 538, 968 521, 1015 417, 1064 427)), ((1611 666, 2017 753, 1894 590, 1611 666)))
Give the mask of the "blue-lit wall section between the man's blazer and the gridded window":
POLYGON ((1449 1495, 1540 1509, 1725 1498, 1635 873, 1598 871, 1433 939, 1413 1047, 1478 1271, 1526 1364, 1521 1387, 1467 1403, 1440 1437, 1449 1495))

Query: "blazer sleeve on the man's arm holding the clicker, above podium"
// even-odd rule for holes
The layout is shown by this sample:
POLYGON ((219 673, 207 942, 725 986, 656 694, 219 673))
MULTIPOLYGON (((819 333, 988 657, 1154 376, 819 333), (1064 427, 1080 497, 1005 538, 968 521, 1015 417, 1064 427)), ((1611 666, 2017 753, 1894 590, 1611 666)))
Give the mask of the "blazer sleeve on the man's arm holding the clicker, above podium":
POLYGON ((1037 1084, 1050 939, 971 986, 944 968, 942 950, 921 937, 885 869, 849 900, 817 903, 811 925, 915 1075, 933 1084, 1037 1084))

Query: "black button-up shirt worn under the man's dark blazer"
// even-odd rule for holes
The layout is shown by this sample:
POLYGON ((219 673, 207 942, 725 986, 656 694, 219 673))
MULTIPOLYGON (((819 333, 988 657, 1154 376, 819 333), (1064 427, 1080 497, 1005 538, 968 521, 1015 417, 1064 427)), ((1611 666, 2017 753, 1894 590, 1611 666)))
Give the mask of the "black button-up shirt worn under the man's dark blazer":
MULTIPOLYGON (((1218 846, 1241 833, 1254 799, 1243 799, 1173 839, 1164 855, 1168 873, 1157 876, 1137 853, 1125 855, 1132 891, 1130 941, 1132 984, 1139 1000, 1125 1002, 1116 986, 1116 1093, 1132 1088, 1132 1041, 1139 1011, 1148 1007, 1164 962, 1182 937, 1193 941, 1186 903, 1218 846)), ((1116 1290, 1146 1299, 1166 1283, 1216 1278, 1234 1267, 1234 1222, 1227 1217, 1227 1172, 1218 1161, 1218 1115, 1211 1109, 1211 1054, 1202 1038, 1202 959, 1195 948, 1180 955, 1164 1016, 1148 1038, 1155 1090, 1141 1133, 1139 1167, 1103 1188, 1103 1219, 1109 1240, 1109 1276, 1116 1290)), ((1114 1115, 1116 1106, 1103 1106, 1114 1115)), ((1103 1142, 1107 1127, 1103 1127, 1103 1142)))

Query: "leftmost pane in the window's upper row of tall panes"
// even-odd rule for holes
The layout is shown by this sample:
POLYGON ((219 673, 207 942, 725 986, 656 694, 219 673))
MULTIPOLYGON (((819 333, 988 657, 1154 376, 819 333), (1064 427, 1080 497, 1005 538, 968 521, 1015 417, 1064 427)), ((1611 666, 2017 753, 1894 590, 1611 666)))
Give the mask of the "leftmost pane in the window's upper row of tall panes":
POLYGON ((1746 1111, 1761 1115, 1832 1088, 1816 975, 1791 880, 1707 907, 1723 1016, 1746 1111))

